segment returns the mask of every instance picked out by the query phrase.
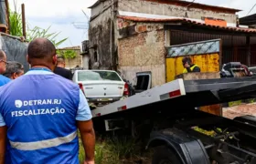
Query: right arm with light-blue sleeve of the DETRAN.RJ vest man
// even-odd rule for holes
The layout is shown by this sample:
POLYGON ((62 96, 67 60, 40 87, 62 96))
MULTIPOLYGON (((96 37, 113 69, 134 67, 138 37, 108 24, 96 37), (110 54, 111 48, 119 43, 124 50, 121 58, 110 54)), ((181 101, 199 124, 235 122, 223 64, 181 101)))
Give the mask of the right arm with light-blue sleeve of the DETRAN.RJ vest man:
POLYGON ((91 118, 91 109, 89 108, 86 97, 80 90, 80 104, 76 119, 86 155, 85 164, 94 164, 95 133, 91 118))

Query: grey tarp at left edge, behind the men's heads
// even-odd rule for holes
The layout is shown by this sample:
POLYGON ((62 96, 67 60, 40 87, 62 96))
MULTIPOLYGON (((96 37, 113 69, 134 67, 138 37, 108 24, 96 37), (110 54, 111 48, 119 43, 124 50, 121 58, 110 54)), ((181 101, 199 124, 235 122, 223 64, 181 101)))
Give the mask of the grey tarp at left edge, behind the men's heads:
POLYGON ((29 69, 27 63, 28 43, 21 42, 12 36, 0 36, 0 49, 5 51, 7 61, 17 61, 23 64, 25 72, 29 69))

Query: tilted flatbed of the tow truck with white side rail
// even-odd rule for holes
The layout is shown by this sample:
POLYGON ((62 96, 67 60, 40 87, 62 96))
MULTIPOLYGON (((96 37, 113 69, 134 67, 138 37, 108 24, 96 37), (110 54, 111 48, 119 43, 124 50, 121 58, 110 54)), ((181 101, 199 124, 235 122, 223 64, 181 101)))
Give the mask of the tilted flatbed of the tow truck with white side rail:
POLYGON ((167 100, 172 103, 201 107, 250 97, 256 97, 256 77, 185 81, 176 79, 160 87, 93 109, 91 114, 93 118, 97 118, 167 100))

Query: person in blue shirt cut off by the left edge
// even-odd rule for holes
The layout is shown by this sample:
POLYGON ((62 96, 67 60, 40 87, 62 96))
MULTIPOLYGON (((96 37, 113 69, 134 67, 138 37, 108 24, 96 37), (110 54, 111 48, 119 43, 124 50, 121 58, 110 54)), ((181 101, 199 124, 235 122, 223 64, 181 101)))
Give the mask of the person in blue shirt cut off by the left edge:
POLYGON ((0 50, 0 87, 11 81, 10 78, 3 76, 6 71, 6 55, 3 50, 0 50))

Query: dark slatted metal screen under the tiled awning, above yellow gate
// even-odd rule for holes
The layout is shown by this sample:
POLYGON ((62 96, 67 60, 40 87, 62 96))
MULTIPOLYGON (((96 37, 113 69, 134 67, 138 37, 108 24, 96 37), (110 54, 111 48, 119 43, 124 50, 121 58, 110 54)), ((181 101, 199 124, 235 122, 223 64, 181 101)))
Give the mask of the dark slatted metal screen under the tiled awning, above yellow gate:
MULTIPOLYGON (((246 36, 204 34, 176 30, 171 31, 172 46, 211 39, 221 39, 221 63, 240 61, 241 63, 246 64, 246 36)), ((251 49, 253 49, 251 50, 251 65, 256 65, 256 49, 254 50, 253 45, 256 45, 256 37, 251 36, 251 49)))

